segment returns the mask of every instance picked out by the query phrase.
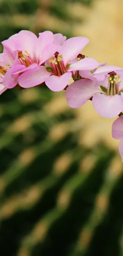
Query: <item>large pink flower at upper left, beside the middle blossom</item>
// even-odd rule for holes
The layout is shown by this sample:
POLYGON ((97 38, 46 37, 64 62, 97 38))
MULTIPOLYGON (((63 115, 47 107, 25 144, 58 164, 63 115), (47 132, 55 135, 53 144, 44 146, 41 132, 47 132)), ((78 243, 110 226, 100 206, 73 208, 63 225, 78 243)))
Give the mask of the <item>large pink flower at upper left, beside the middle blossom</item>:
MULTIPOLYGON (((56 36, 57 38, 57 36, 56 36)), ((39 34, 39 37, 31 31, 20 31, 18 34, 11 36, 8 40, 2 42, 4 52, 17 52, 18 59, 13 68, 13 75, 18 74, 18 83, 21 87, 28 88, 39 85, 49 77, 50 73, 46 70, 43 63, 56 52, 57 45, 54 44, 54 35, 50 31, 39 34)), ((12 72, 11 71, 11 72, 12 72)), ((3 84, 7 88, 13 88, 9 81, 9 73, 3 84)))

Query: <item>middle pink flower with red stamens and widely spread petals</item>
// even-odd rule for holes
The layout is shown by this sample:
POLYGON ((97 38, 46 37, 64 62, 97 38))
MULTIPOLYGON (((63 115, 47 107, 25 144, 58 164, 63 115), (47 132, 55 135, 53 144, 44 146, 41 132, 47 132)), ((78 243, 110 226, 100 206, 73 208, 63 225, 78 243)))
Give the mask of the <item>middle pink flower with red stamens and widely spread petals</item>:
POLYGON ((67 39, 62 46, 59 46, 58 51, 49 58, 52 74, 45 80, 49 89, 54 92, 61 91, 67 86, 72 76, 77 78, 78 70, 90 70, 98 67, 99 63, 96 60, 85 58, 85 56, 83 58, 83 55, 79 54, 88 42, 89 39, 84 37, 67 39))

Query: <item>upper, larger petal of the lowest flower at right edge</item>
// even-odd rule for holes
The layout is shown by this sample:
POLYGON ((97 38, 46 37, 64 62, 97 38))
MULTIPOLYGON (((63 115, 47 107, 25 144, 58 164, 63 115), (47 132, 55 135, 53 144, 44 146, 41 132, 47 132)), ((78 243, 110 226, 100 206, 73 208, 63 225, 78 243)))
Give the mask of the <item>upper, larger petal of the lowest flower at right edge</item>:
POLYGON ((112 124, 112 137, 114 139, 123 139, 123 115, 118 117, 112 124))

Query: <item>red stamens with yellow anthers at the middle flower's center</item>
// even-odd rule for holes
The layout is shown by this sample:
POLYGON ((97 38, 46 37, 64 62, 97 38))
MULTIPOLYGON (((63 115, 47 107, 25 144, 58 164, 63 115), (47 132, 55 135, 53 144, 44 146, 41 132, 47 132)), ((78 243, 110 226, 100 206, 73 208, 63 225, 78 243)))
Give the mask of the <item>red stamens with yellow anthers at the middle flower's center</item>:
POLYGON ((62 54, 59 54, 59 52, 55 52, 54 56, 49 58, 49 62, 55 76, 61 76, 66 73, 67 69, 63 63, 62 54))

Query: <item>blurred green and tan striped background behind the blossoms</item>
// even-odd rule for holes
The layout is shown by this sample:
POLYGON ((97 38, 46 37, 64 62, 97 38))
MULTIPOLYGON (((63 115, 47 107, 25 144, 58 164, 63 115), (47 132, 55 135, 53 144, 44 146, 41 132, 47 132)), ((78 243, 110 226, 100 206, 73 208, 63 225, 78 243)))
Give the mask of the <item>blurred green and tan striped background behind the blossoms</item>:
MULTIPOLYGON (((0 0, 0 41, 22 29, 85 36, 83 54, 123 66, 122 13, 122 0, 0 0)), ((113 121, 45 87, 0 96, 1 256, 123 255, 113 121)))

